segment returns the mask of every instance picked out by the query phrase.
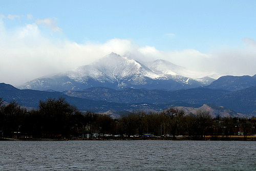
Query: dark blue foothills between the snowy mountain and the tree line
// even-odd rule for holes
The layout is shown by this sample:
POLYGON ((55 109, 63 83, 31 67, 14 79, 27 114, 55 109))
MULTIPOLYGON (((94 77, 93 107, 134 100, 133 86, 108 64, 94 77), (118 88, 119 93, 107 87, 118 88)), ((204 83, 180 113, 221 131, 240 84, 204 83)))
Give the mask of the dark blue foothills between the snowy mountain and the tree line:
MULTIPOLYGON (((96 88, 91 89, 98 94, 101 93, 100 90, 95 90, 96 88)), ((124 92, 129 96, 134 96, 134 99, 131 98, 131 101, 128 101, 130 103, 124 103, 120 99, 116 99, 119 100, 118 103, 109 102, 107 101, 107 99, 91 100, 86 98, 70 97, 67 96, 65 92, 61 93, 55 91, 45 92, 37 90, 19 90, 17 88, 14 88, 10 84, 5 83, 0 83, 0 97, 2 97, 7 102, 15 100, 18 102, 19 105, 24 105, 32 108, 37 108, 39 100, 64 97, 67 102, 77 106, 77 108, 81 111, 91 111, 99 113, 105 113, 110 110, 119 111, 117 113, 120 113, 120 111, 132 112, 134 110, 162 111, 170 107, 183 108, 186 110, 195 108, 194 110, 196 110, 204 106, 204 104, 207 104, 208 106, 211 106, 210 108, 212 108, 212 113, 214 113, 215 116, 256 115, 256 86, 237 92, 212 90, 206 88, 195 88, 177 91, 145 89, 136 90, 130 88, 124 90, 113 90, 107 88, 103 89, 108 90, 108 92, 111 93, 116 91, 124 92), (150 99, 151 101, 144 100, 143 97, 145 96, 147 96, 147 100, 150 99), (141 99, 141 101, 135 101, 135 99, 141 99), (162 101, 159 101, 159 99, 161 99, 162 101), (237 112, 239 112, 240 114, 237 112)), ((105 95, 110 96, 111 94, 105 95)), ((110 96, 110 98, 112 97, 110 96)), ((191 111, 193 110, 191 109, 191 111)))

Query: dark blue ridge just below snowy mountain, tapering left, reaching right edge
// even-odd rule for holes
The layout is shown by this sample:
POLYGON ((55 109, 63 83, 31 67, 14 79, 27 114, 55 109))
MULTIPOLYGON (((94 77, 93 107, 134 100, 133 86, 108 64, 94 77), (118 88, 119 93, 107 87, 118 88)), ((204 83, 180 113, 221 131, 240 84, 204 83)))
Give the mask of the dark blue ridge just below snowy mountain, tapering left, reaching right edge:
POLYGON ((203 105, 206 103, 225 106, 237 112, 256 114, 256 86, 236 92, 199 87, 194 89, 166 91, 145 89, 113 90, 109 88, 90 88, 83 91, 66 91, 66 95, 88 98, 93 100, 105 100, 121 103, 187 103, 203 105))

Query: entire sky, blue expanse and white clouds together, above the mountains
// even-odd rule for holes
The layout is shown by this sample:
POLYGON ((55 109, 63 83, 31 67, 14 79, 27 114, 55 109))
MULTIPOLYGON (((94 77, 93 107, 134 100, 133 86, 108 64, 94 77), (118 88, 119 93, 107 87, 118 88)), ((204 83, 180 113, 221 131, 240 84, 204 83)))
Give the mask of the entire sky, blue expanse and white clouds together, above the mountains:
POLYGON ((6 75, 0 82, 17 84, 90 63, 109 51, 132 52, 141 60, 161 57, 184 67, 195 62, 191 69, 210 74, 256 74, 250 66, 256 54, 256 1, 1 1, 0 29, 4 68, 14 60, 41 66, 17 67, 26 76, 13 81, 6 75), (223 62, 231 63, 226 70, 223 62))

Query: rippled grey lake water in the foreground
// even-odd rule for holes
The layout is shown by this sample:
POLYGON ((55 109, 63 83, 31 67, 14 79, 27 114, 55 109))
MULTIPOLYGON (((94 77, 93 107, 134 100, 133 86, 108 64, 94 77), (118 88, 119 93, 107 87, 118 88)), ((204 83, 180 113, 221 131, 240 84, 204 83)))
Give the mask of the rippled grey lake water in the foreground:
POLYGON ((0 170, 256 170, 256 142, 0 141, 0 170))

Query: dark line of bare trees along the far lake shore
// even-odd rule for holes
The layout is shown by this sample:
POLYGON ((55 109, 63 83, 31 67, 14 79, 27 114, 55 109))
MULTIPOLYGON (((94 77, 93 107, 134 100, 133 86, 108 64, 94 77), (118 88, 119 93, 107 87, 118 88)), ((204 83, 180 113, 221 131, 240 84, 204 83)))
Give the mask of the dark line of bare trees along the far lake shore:
POLYGON ((119 135, 120 137, 183 135, 204 139, 210 135, 229 139, 231 135, 256 134, 256 118, 212 118, 209 111, 198 110, 185 115, 183 110, 169 108, 162 112, 133 111, 113 119, 108 115, 80 112, 64 98, 39 101, 38 109, 27 111, 13 100, 4 105, 0 98, 0 137, 71 138, 82 134, 119 135))

